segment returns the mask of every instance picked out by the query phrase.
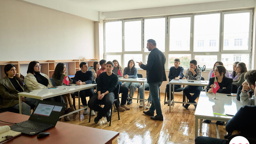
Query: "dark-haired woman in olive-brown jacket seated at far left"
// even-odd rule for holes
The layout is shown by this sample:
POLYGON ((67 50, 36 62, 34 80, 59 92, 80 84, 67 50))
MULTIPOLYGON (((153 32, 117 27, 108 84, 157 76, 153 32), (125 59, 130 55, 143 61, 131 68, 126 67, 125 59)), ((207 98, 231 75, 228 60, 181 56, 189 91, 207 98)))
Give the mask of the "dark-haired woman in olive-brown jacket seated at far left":
MULTIPOLYGON (((19 109, 19 92, 24 92, 22 79, 16 75, 16 66, 4 66, 5 77, 0 79, 0 106, 3 108, 19 109)), ((35 107, 33 98, 21 97, 22 114, 31 115, 31 107, 35 107)))

